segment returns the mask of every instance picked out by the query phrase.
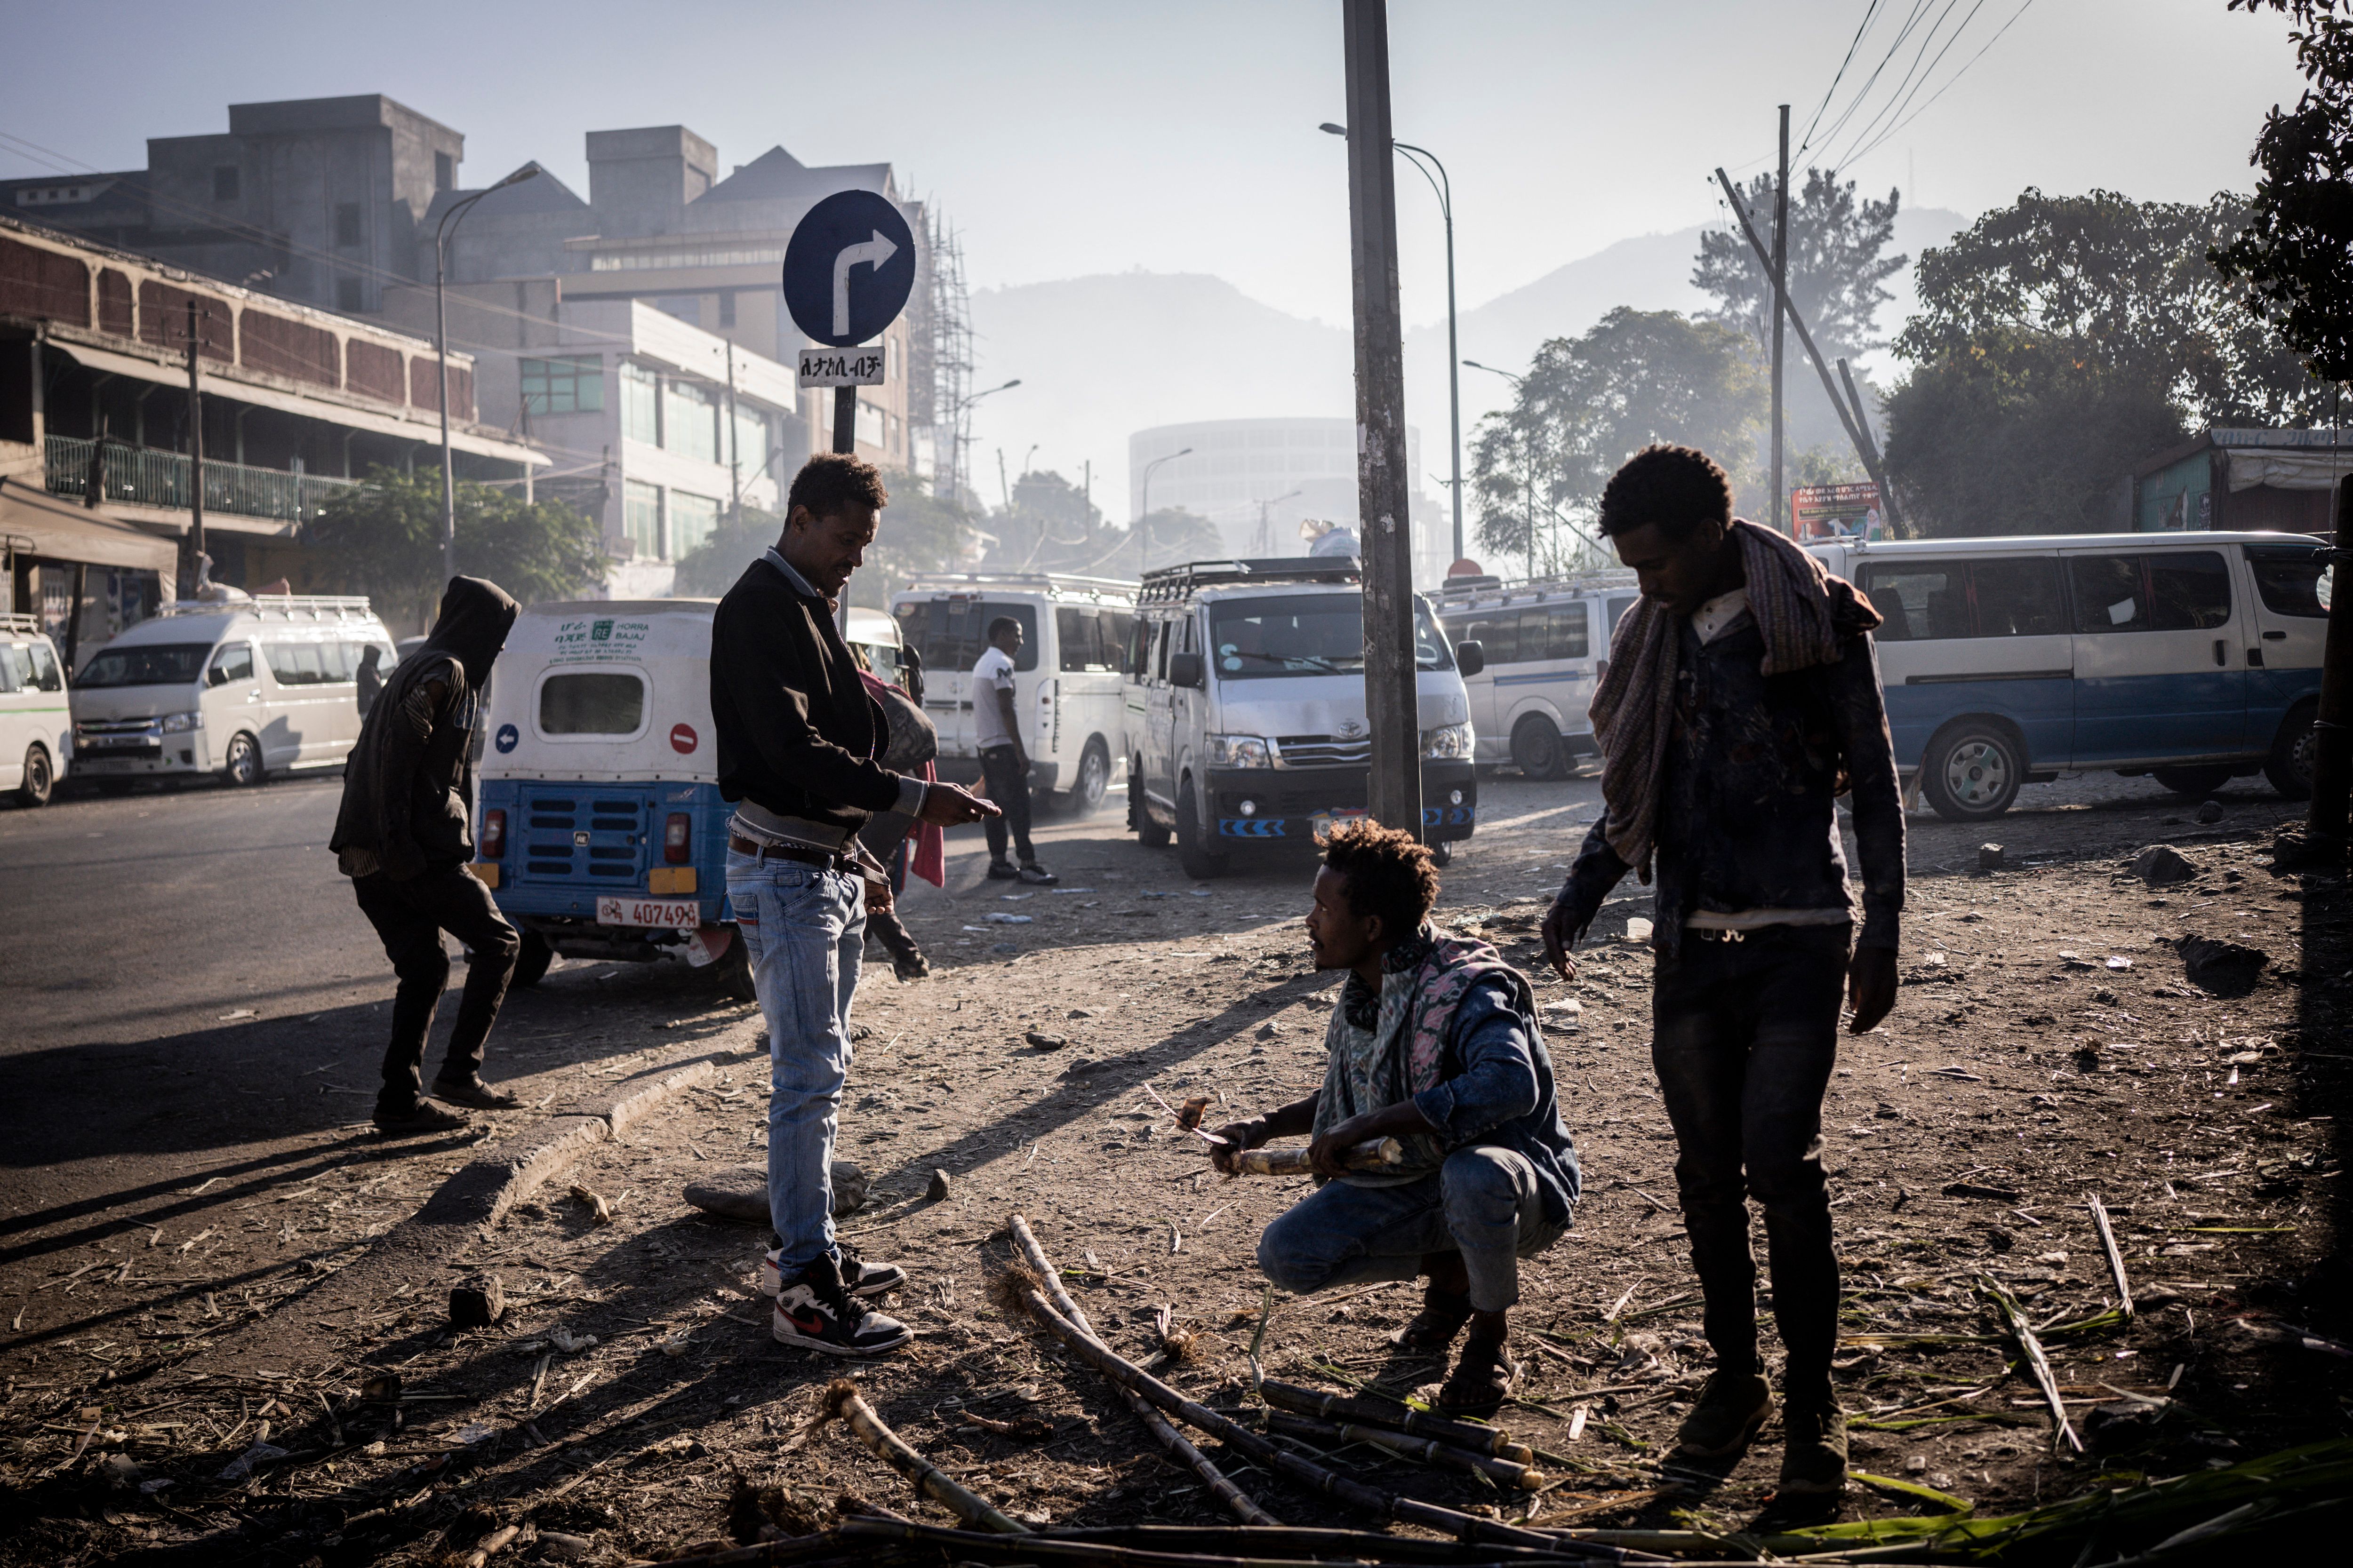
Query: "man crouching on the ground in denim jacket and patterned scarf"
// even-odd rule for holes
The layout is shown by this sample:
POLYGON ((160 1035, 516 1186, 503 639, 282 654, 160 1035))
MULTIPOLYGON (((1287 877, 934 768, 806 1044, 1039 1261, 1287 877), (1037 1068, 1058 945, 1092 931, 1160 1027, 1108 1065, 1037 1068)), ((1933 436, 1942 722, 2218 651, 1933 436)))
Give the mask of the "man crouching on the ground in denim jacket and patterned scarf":
POLYGON ((1438 1408, 1487 1415, 1520 1371, 1506 1333, 1518 1260, 1569 1227, 1577 1147, 1527 980, 1487 943, 1433 929, 1435 903, 1431 851, 1412 835, 1348 823, 1327 839, 1308 947, 1348 983, 1322 1088, 1219 1128, 1217 1164, 1313 1133, 1320 1190, 1266 1227, 1259 1267, 1297 1293, 1426 1274, 1421 1314, 1393 1345, 1445 1356, 1471 1324, 1438 1408), (1351 1168, 1346 1152, 1372 1138, 1395 1138, 1402 1164, 1351 1168))

